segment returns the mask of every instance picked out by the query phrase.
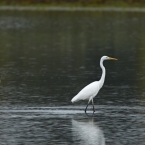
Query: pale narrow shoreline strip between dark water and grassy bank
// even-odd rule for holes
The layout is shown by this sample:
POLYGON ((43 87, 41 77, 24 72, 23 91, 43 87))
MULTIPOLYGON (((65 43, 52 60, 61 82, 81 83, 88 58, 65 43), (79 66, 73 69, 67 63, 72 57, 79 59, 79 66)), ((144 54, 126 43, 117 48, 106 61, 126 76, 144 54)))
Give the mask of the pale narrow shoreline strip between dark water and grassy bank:
POLYGON ((69 6, 0 6, 0 11, 106 11, 106 12, 145 12, 140 7, 69 7, 69 6))

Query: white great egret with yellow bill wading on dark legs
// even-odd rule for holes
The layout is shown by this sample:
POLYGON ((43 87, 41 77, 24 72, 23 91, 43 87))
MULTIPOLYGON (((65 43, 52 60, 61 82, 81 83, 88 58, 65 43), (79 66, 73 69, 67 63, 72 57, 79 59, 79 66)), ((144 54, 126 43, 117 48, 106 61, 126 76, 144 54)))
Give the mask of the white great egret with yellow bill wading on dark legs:
POLYGON ((94 102, 93 98, 98 94, 99 90, 102 88, 104 81, 105 81, 105 75, 106 75, 106 70, 105 67, 103 66, 103 61, 104 60, 117 60, 116 58, 108 57, 108 56, 102 56, 100 59, 100 67, 102 69, 102 76, 99 81, 95 81, 84 87, 76 96, 74 96, 71 100, 72 103, 77 102, 79 100, 89 100, 88 104, 85 109, 85 113, 87 111, 87 107, 92 101, 93 105, 93 112, 95 112, 94 108, 94 102))

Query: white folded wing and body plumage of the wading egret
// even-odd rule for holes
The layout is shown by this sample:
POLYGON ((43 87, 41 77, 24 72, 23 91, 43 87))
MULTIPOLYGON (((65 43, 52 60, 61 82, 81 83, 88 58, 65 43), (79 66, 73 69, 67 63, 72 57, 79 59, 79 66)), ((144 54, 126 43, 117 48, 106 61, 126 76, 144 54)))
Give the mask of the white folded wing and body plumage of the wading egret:
POLYGON ((90 97, 95 97, 100 90, 99 82, 95 81, 86 87, 84 87, 71 101, 76 102, 79 100, 90 99, 90 97))

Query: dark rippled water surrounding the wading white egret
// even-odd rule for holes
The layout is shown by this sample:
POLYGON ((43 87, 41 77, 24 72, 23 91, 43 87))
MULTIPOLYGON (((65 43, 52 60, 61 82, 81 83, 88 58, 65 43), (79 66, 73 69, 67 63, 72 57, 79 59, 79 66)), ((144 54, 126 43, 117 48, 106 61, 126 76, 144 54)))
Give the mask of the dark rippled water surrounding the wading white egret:
POLYGON ((0 13, 0 143, 144 145, 145 14, 0 13), (70 100, 99 80, 96 112, 70 100))

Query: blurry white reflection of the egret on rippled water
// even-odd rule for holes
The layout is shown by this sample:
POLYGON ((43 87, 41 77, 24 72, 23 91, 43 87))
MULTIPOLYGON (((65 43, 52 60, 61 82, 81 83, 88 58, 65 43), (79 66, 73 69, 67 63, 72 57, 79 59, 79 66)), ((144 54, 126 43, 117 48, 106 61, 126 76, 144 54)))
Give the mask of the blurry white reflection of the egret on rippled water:
POLYGON ((72 119, 74 140, 81 145, 105 145, 103 131, 94 123, 93 118, 87 120, 72 119))

